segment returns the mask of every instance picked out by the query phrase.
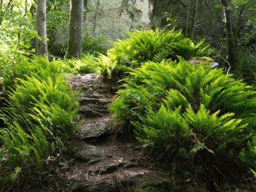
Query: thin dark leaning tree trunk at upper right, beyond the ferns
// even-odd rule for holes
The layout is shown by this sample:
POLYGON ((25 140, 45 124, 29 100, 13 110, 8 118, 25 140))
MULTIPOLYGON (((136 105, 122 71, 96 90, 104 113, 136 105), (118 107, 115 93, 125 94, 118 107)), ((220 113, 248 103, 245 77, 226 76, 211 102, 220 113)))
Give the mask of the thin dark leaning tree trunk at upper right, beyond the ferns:
MULTIPOLYGON (((223 6, 224 17, 225 17, 225 26, 227 31, 227 54, 228 54, 228 68, 236 69, 236 54, 235 54, 235 45, 234 45, 234 36, 232 33, 232 24, 230 18, 230 10, 228 9, 227 0, 220 0, 223 6)), ((227 64, 228 64, 227 63, 227 64)))

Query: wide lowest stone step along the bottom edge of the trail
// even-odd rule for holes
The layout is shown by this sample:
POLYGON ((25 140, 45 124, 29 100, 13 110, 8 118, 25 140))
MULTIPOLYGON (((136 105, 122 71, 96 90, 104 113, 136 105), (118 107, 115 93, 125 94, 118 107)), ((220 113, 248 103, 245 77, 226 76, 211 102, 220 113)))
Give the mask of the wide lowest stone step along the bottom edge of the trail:
POLYGON ((150 170, 120 171, 106 177, 88 177, 87 182, 72 186, 73 192, 178 191, 170 179, 154 177, 150 170))

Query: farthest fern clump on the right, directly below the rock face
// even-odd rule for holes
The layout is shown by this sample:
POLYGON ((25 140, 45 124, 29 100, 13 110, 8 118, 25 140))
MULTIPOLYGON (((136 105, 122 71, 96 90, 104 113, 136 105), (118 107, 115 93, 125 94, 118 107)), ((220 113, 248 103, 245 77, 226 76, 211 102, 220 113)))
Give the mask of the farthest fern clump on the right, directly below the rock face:
POLYGON ((203 42, 195 45, 184 38, 181 31, 174 30, 130 32, 129 38, 113 42, 113 49, 107 51, 108 60, 102 56, 102 71, 106 78, 115 82, 125 72, 140 67, 145 61, 177 60, 177 56, 189 60, 193 56, 208 56, 211 49, 209 45, 203 45, 203 42))

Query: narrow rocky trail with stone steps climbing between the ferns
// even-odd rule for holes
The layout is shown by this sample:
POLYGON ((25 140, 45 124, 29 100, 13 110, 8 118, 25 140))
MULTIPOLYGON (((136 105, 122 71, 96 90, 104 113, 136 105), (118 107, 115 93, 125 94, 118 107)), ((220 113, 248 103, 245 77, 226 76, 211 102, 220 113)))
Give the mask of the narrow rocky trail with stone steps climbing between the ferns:
MULTIPOLYGON (((170 191, 167 174, 143 157, 143 145, 116 129, 108 104, 113 95, 98 74, 80 74, 68 80, 78 99, 80 118, 75 152, 60 166, 60 191, 170 191)), ((51 191, 51 190, 50 190, 51 191)), ((53 191, 53 189, 52 189, 53 191)))

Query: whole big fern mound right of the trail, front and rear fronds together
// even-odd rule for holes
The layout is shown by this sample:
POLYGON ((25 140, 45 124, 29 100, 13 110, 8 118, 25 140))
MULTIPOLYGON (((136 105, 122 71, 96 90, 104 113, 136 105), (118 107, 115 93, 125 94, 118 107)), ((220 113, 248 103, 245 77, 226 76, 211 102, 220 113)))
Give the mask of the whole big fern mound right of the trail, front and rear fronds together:
POLYGON ((256 133, 256 92, 221 69, 151 61, 130 75, 110 109, 115 119, 131 121, 138 140, 157 150, 183 149, 186 158, 202 152, 225 157, 256 133))

